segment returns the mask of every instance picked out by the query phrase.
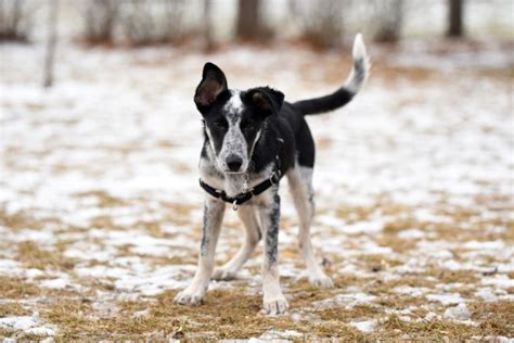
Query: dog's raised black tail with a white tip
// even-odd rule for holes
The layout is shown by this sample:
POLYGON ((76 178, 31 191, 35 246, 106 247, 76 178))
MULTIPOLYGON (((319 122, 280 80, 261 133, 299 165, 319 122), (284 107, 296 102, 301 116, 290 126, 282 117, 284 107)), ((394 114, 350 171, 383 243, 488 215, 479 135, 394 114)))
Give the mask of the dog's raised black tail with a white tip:
POLYGON ((362 86, 364 86, 370 74, 370 59, 365 52, 365 46, 362 41, 361 34, 356 36, 352 56, 354 66, 342 88, 325 97, 295 102, 293 106, 299 110, 304 115, 307 115, 333 111, 350 102, 362 86))

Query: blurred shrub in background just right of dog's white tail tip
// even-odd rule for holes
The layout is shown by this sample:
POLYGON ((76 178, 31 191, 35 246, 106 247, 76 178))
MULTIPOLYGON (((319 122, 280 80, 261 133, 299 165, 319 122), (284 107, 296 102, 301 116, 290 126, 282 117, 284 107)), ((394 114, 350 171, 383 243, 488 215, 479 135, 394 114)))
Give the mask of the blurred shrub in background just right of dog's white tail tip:
POLYGON ((396 42, 403 24, 403 0, 371 0, 373 4, 374 39, 396 42))

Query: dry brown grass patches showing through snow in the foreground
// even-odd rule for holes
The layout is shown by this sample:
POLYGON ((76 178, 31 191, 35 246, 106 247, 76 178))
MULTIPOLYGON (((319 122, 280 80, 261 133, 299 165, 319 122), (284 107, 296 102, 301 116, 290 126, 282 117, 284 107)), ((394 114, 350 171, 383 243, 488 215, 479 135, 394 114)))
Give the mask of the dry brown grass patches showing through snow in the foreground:
MULTIPOLYGON (((116 200, 103 192, 81 194, 81 196, 95 196, 99 205, 105 208, 123 206, 123 201, 116 200)), ((142 200, 144 201, 144 200, 142 200)), ((195 207, 165 203, 169 215, 169 223, 187 224, 191 221, 192 212, 195 207)), ((216 339, 240 339, 260 336, 269 330, 295 330, 303 334, 304 340, 339 338, 343 341, 397 341, 397 340, 468 340, 473 335, 506 335, 512 336, 514 322, 512 313, 513 302, 483 303, 477 301, 475 292, 483 277, 479 272, 472 270, 447 270, 437 264, 428 264, 420 272, 408 272, 396 275, 395 278, 383 279, 384 275, 395 274, 396 268, 404 264, 406 257, 416 254, 417 241, 413 239, 400 239, 398 233, 406 229, 419 229, 422 232, 432 232, 435 237, 426 240, 442 239, 451 242, 465 242, 467 240, 497 239, 497 236, 478 232, 473 228, 461 229, 461 225, 473 221, 478 226, 496 225, 507 227, 510 223, 499 219, 476 221, 477 214, 472 211, 452 209, 439 212, 441 216, 451 218, 453 224, 437 224, 419 221, 411 216, 413 208, 399 204, 391 204, 378 200, 376 204, 364 206, 345 206, 337 208, 337 215, 347 221, 367 220, 377 213, 388 216, 390 219, 381 233, 375 234, 373 241, 381 245, 390 247, 394 255, 389 254, 357 254, 351 258, 344 255, 329 255, 331 263, 325 268, 334 275, 335 289, 320 290, 312 287, 305 279, 296 281, 294 278, 283 278, 284 290, 290 297, 291 313, 293 315, 280 317, 266 317, 261 313, 261 295, 259 290, 246 287, 246 281, 237 280, 229 289, 218 289, 207 293, 204 304, 200 307, 179 306, 172 303, 175 291, 150 297, 139 297, 136 301, 99 301, 98 294, 116 294, 115 279, 108 278, 77 278, 74 282, 83 287, 83 291, 77 292, 56 291, 40 289, 36 284, 16 278, 2 277, 0 279, 0 296, 11 300, 30 298, 46 296, 47 303, 21 305, 18 303, 7 303, 0 305, 0 316, 29 315, 34 312, 40 313, 43 322, 53 323, 59 327, 57 340, 155 340, 155 339, 185 339, 185 340, 216 340, 216 339), (368 277, 337 274, 348 259, 368 272, 368 277), (376 276, 376 277, 372 277, 376 276), (394 289, 401 285, 413 288, 426 288, 436 290, 437 284, 452 284, 448 292, 457 292, 466 298, 472 313, 472 320, 477 327, 464 325, 447 319, 424 319, 429 313, 442 315, 448 306, 428 302, 423 295, 412 296, 409 294, 397 294, 394 289), (348 307, 345 305, 332 305, 332 307, 317 308, 312 304, 320 301, 329 301, 348 290, 361 290, 363 293, 376 296, 376 300, 365 305, 348 307), (98 306, 112 310, 105 312, 98 306), (410 308, 407 320, 391 312, 401 312, 410 308), (349 322, 361 320, 376 320, 376 330, 373 333, 363 333, 349 322)), ((5 216, 4 216, 5 218, 5 216)), ((26 226, 35 227, 35 218, 25 214, 8 216, 12 223, 13 230, 23 229, 26 226)), ((166 219, 168 220, 168 219, 166 219)), ((287 227, 293 223, 284 218, 287 227)), ((93 227, 102 230, 123 230, 124 228, 113 224, 111 216, 93 218, 93 227)), ((172 239, 174 234, 162 229, 162 220, 138 221, 132 228, 143 230, 156 238, 172 239)), ((37 227, 37 226, 36 226, 37 227)), ((235 226, 234 226, 235 228, 235 226)), ((198 228, 197 228, 198 229, 198 228)), ((239 230, 240 228, 237 228, 239 230)), ((230 230, 229 230, 230 231, 230 230)), ((509 231, 509 229, 506 230, 509 231)), ((86 234, 82 229, 72 227, 56 231, 56 234, 75 232, 86 234), (69 229, 69 231, 67 230, 69 229)), ((191 232, 197 237, 200 229, 191 232)), ((334 232, 335 233, 335 232, 334 232)), ((501 232, 500 232, 501 233, 501 232)), ((236 237, 235 232, 230 234, 236 237)), ((502 233, 506 234, 506 233, 502 233)), ((361 234, 352 236, 357 241, 361 234)), ((507 236, 504 236, 507 237, 507 236)), ((103 246, 105 242, 101 239, 90 239, 92 244, 103 246)), ((357 242, 356 241, 356 242, 357 242)), ((61 270, 73 275, 77 261, 67 258, 63 252, 77 239, 60 239, 51 247, 43 247, 31 241, 21 242, 15 245, 14 258, 26 268, 38 268, 41 270, 61 270)), ((136 242, 134 242, 136 243, 136 242)), ((348 242, 351 249, 359 249, 355 242, 348 242)), ((133 244, 119 245, 118 257, 133 257, 133 244)), ((235 252, 239 242, 231 242, 230 251, 235 252)), ((181 250, 182 251, 182 250, 181 250)), ((187 253, 189 250, 183 249, 187 253)), ((466 261, 465 250, 454 250, 455 261, 466 261)), ((257 255, 259 253, 256 253, 257 255)), ((166 267, 170 265, 195 264, 196 252, 191 254, 176 254, 170 256, 138 255, 141 261, 155 266, 166 267)), ((498 263, 494 256, 486 256, 485 261, 490 264, 498 263)), ((222 258, 227 261, 229 256, 222 258)), ((295 244, 285 245, 281 249, 281 258, 294 261, 298 267, 303 264, 295 244)), ((83 262, 81 262, 83 265, 83 262)), ((108 262, 90 261, 88 266, 110 266, 108 262)), ((253 274, 258 274, 259 266, 248 267, 253 274)), ((514 275, 507 274, 514 278, 514 275)), ((38 278, 34 281, 38 282, 38 278)), ((513 293, 511 289, 507 292, 513 293)), ((440 318, 440 317, 438 317, 440 318)), ((12 336, 17 334, 23 339, 37 340, 38 336, 10 330, 0 331, 0 336, 12 336)))

